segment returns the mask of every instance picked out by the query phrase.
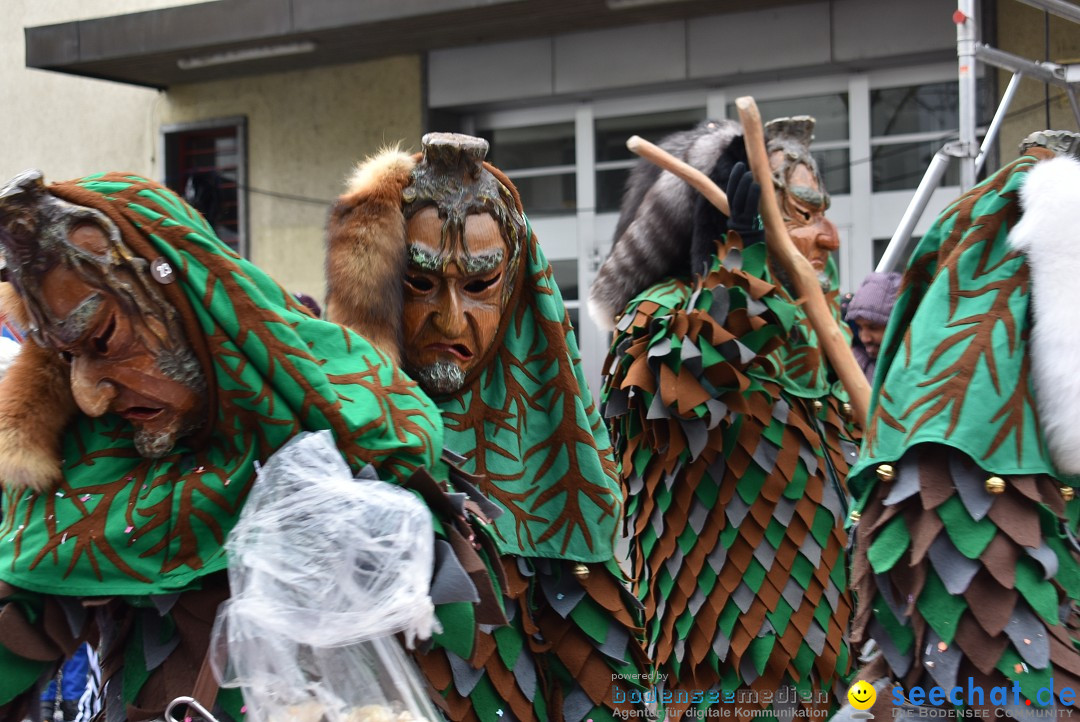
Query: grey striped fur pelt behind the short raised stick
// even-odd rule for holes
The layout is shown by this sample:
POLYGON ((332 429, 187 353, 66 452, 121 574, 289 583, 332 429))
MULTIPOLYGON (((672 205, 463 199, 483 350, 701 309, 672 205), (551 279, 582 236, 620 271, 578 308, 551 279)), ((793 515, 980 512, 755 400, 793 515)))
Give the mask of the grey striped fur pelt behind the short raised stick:
MULTIPOLYGON (((735 121, 703 121, 658 144, 710 175, 720 154, 742 135, 735 121)), ((611 251, 589 294, 596 324, 610 330, 638 292, 671 275, 690 272, 690 245, 698 191, 677 176, 642 160, 626 181, 611 251)))

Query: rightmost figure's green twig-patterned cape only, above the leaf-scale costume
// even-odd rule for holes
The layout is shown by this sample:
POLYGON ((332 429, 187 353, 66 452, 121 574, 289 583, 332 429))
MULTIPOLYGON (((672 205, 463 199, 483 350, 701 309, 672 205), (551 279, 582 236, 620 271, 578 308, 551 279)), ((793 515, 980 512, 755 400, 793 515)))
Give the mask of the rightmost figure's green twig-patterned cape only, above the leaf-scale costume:
POLYGON ((998 474, 1052 473, 1027 382, 1030 284, 1023 254, 1005 243, 1036 161, 1015 161, 956 201, 912 254, 853 487, 868 466, 920 442, 948 444, 998 474))

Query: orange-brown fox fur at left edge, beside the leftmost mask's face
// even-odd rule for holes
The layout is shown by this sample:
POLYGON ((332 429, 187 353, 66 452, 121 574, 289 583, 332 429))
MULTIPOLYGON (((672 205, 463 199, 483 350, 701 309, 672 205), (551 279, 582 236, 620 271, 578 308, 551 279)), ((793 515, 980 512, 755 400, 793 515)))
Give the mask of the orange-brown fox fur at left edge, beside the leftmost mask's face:
MULTIPOLYGON (((26 309, 10 284, 0 284, 0 313, 24 328, 26 309)), ((0 381, 0 480, 43 492, 60 478, 60 434, 78 407, 67 365, 27 338, 0 381)))

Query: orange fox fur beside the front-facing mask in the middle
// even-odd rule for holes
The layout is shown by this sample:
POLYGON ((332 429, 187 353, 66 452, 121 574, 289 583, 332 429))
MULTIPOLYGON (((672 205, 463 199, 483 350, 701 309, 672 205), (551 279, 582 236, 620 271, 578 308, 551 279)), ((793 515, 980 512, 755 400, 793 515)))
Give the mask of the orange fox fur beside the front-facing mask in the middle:
POLYGON ((416 161, 387 149, 362 162, 326 228, 326 318, 401 363, 405 217, 402 191, 416 161))

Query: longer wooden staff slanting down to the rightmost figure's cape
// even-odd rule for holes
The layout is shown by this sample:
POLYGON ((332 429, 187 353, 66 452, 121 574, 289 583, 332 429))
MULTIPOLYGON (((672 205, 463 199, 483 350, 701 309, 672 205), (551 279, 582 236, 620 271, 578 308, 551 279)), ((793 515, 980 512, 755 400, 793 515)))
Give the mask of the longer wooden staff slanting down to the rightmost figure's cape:
POLYGON ((780 214, 777 192, 772 187, 772 167, 769 165, 769 154, 765 149, 765 131, 761 127, 761 115, 757 111, 757 104, 747 95, 735 99, 735 108, 739 109, 739 120, 743 126, 743 140, 746 144, 750 168, 754 173, 754 179, 761 186, 761 221, 765 223, 766 246, 791 276, 810 325, 821 339, 825 356, 828 357, 828 363, 833 365, 840 383, 851 397, 855 419, 860 423, 865 423, 870 386, 863 370, 859 368, 854 354, 851 353, 851 345, 840 332, 836 319, 828 310, 828 303, 825 301, 813 267, 787 235, 787 226, 784 224, 784 218, 780 214))

